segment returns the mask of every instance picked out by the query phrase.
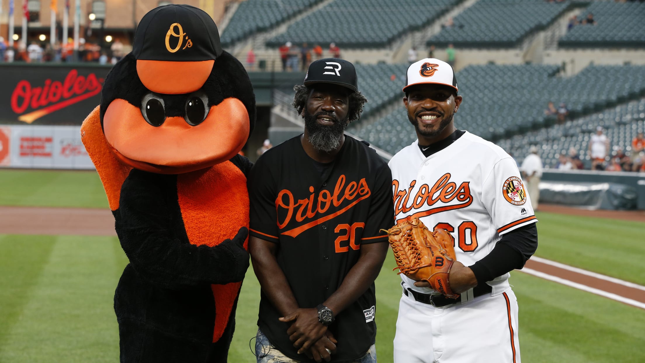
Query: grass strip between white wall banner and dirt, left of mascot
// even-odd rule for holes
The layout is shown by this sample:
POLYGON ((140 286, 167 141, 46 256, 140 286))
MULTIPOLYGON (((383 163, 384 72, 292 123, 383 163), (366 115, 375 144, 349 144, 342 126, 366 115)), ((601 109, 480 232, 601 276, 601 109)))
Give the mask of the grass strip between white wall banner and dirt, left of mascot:
POLYGON ((96 171, 0 169, 0 205, 107 208, 96 171))

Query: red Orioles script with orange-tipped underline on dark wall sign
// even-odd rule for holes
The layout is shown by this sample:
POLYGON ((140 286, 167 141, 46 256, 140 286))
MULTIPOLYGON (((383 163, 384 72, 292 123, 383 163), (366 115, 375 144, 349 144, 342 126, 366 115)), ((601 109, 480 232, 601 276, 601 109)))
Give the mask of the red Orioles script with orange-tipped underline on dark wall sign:
POLYGON ((32 123, 47 114, 99 94, 103 88, 102 82, 103 78, 96 78, 94 73, 87 77, 79 76, 75 69, 70 70, 62 83, 46 79, 42 87, 32 87, 29 81, 19 81, 11 95, 11 109, 16 114, 22 114, 30 107, 35 109, 18 117, 18 121, 32 123))

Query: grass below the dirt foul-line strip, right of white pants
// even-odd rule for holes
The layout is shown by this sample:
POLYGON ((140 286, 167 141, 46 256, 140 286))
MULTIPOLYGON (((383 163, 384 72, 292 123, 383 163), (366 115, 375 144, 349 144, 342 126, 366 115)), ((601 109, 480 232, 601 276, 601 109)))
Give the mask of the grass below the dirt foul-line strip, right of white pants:
POLYGON ((641 309, 518 271, 511 275, 526 362, 645 362, 641 309))

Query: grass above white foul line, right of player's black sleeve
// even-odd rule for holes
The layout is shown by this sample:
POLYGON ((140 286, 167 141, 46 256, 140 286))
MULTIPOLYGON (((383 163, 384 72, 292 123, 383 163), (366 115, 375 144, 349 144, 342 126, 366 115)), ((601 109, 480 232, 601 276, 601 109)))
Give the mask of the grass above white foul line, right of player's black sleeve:
POLYGON ((536 256, 645 285, 645 223, 537 213, 536 256))

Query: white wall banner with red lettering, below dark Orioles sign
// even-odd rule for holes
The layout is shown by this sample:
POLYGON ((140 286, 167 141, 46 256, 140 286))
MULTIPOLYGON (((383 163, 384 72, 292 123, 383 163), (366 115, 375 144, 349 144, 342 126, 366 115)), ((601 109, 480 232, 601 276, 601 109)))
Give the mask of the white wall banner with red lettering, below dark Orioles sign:
POLYGON ((0 167, 94 169, 80 126, 3 126, 0 145, 0 167))

